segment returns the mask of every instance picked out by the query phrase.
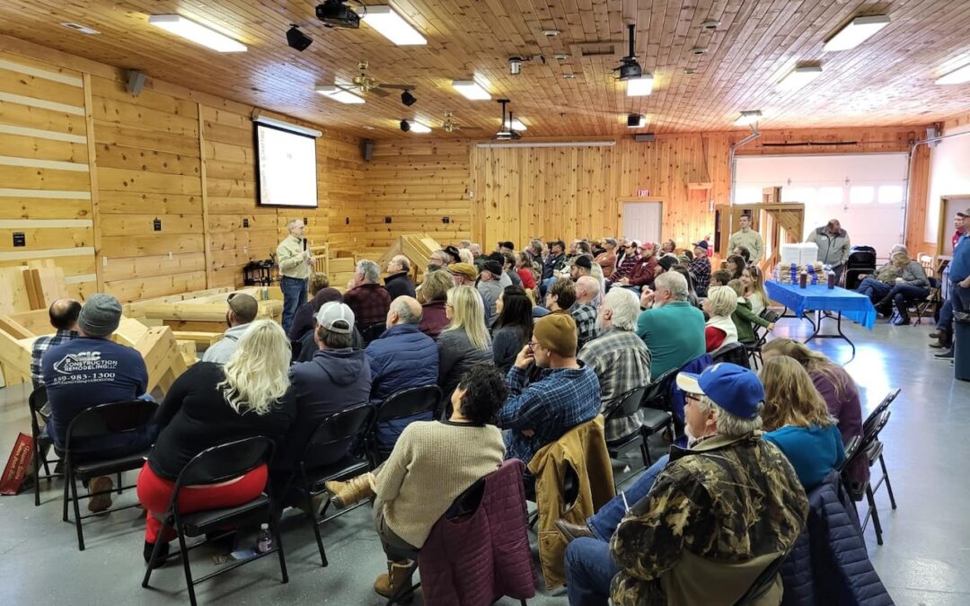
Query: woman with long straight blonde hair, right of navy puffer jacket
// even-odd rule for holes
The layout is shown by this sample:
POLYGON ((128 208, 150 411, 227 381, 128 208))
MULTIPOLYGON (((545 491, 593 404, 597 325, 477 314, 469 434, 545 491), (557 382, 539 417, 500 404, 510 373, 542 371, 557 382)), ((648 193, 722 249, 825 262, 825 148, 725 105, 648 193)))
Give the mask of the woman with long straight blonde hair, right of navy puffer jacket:
POLYGON ((492 362, 492 338, 485 326, 485 303, 473 286, 448 291, 444 305, 448 326, 437 337, 437 385, 445 401, 465 371, 478 362, 492 362))

